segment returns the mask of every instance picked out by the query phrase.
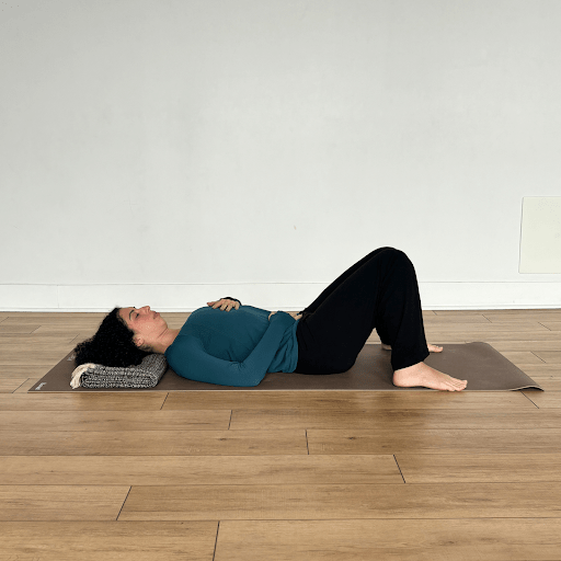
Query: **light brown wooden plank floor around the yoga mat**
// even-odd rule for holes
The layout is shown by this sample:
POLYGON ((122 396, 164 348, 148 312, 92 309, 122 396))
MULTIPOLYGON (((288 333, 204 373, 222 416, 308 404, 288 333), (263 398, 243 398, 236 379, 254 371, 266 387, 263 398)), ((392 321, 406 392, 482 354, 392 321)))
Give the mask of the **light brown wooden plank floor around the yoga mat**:
POLYGON ((561 310, 424 312, 545 392, 27 394, 102 318, 0 311, 0 561, 561 559, 561 310))

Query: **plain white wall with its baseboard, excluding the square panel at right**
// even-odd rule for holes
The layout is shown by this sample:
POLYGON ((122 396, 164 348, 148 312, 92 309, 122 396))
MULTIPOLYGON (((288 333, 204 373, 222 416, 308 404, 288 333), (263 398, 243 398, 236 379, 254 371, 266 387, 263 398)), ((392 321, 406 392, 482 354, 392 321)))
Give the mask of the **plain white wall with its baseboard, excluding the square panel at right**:
POLYGON ((557 0, 12 0, 0 309, 296 309, 381 245, 424 308, 561 307, 519 274, 561 194, 557 0))

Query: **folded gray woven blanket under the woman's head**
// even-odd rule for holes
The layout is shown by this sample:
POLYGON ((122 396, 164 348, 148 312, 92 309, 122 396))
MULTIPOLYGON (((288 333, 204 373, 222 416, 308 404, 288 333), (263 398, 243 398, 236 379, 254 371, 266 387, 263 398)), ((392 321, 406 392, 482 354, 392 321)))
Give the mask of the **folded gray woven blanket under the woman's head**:
POLYGON ((103 366, 82 364, 72 373, 72 389, 84 388, 153 388, 168 369, 168 362, 161 354, 145 356, 137 366, 103 366))

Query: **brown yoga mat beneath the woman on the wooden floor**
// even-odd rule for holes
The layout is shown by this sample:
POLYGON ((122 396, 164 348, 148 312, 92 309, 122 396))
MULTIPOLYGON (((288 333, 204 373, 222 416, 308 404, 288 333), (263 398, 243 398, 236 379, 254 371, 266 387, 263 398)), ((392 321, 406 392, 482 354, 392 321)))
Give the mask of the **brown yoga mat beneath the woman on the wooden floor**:
MULTIPOLYGON (((468 380, 465 391, 505 391, 523 388, 542 390, 529 376, 514 366, 501 353, 488 343, 466 343, 443 345, 442 353, 431 353, 426 364, 468 380)), ((202 381, 193 381, 178 376, 168 368, 154 388, 100 388, 89 389, 70 387, 70 378, 75 369, 72 353, 69 353, 49 373, 47 373, 30 392, 34 391, 188 391, 188 390, 428 390, 428 388, 397 388, 391 382, 392 369, 390 352, 383 351, 379 344, 366 344, 360 351, 354 366, 343 374, 312 376, 305 374, 267 374, 263 381, 253 388, 216 386, 202 381)), ((431 390, 435 391, 435 390, 431 390)))

